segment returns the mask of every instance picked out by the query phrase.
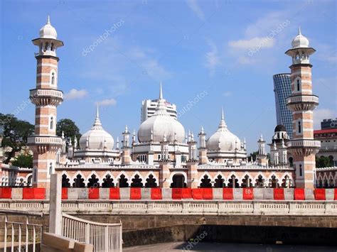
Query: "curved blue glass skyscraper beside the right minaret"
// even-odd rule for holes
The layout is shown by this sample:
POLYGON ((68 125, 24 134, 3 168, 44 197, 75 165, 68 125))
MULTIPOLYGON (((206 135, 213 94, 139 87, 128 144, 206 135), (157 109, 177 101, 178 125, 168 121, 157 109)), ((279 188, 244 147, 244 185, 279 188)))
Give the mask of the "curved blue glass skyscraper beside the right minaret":
POLYGON ((277 74, 273 76, 276 106, 277 125, 283 125, 292 137, 291 111, 287 108, 286 100, 291 94, 290 74, 277 74))

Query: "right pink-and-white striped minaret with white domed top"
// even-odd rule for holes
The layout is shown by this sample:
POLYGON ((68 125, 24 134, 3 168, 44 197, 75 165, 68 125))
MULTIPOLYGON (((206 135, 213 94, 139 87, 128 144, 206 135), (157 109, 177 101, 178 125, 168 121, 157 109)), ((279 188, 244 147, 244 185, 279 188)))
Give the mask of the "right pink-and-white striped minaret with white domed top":
POLYGON ((309 56, 315 53, 309 48, 309 40, 301 34, 291 42, 292 48, 286 54, 292 59, 291 96, 287 99, 292 111, 293 138, 288 143, 294 158, 296 187, 314 187, 315 154, 321 143, 314 141, 313 110, 319 105, 319 97, 312 94, 311 67, 309 56))

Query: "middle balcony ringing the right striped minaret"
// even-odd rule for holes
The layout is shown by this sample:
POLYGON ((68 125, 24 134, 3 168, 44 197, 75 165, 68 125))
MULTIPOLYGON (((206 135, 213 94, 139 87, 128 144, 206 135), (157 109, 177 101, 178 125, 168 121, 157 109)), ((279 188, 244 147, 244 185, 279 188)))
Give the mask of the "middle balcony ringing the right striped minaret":
POLYGON ((314 110, 319 105, 319 97, 313 94, 294 95, 287 98, 287 106, 291 111, 314 110))

